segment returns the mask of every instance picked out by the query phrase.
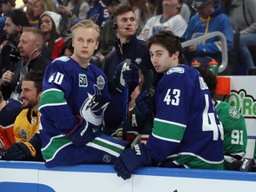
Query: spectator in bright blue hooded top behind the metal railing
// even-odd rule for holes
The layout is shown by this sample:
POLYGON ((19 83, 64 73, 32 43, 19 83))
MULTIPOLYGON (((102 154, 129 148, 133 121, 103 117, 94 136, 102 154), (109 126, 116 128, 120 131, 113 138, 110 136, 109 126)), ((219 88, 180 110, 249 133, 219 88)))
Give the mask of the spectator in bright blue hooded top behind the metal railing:
MULTIPOLYGON (((189 20, 184 39, 187 41, 214 31, 220 31, 226 36, 228 51, 230 51, 233 45, 233 28, 227 15, 220 11, 222 9, 221 4, 214 2, 215 0, 193 1, 192 6, 198 13, 189 20)), ((220 64, 220 53, 220 38, 215 36, 206 41, 188 46, 185 58, 188 65, 197 60, 202 67, 207 67, 212 60, 216 60, 220 64)))

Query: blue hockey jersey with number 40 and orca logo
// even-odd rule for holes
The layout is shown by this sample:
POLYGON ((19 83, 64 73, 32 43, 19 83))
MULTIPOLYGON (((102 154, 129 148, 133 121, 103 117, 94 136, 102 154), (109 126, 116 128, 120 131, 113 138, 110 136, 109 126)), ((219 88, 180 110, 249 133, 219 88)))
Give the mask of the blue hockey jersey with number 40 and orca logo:
MULTIPOLYGON (((66 136, 76 126, 76 116, 81 116, 87 122, 98 126, 100 129, 103 119, 107 118, 104 116, 104 111, 108 107, 108 103, 111 103, 111 97, 108 93, 107 78, 100 68, 93 64, 89 64, 87 68, 81 68, 75 60, 67 56, 54 60, 48 66, 44 75, 43 91, 39 102, 42 124, 40 130, 42 153, 46 166, 56 166, 62 159, 68 158, 68 155, 71 153, 76 153, 74 156, 84 153, 81 151, 83 148, 78 151, 72 144, 72 141, 66 136)), ((121 98, 123 98, 122 94, 121 98)), ((120 108, 122 104, 119 104, 118 101, 117 99, 115 103, 120 108)), ((123 100, 120 100, 120 102, 123 102, 123 100)), ((112 110, 112 114, 118 113, 117 109, 110 108, 109 110, 112 110)), ((122 112, 120 114, 122 117, 122 112)), ((113 122, 113 119, 111 120, 113 122)), ((120 121, 122 121, 122 118, 120 121)), ((120 122, 116 124, 120 124, 120 122)), ((104 140, 107 140, 106 142, 108 142, 109 146, 108 138, 101 138, 97 144, 92 143, 92 145, 94 147, 95 145, 103 145, 104 140)), ((124 147, 121 145, 119 147, 117 149, 121 152, 124 147)), ((84 151, 89 150, 85 145, 84 148, 84 151)), ((91 149, 90 153, 93 153, 91 149)), ((115 156, 119 156, 119 154, 115 152, 115 156)), ((77 164, 79 159, 83 158, 71 158, 67 162, 77 164)), ((96 157, 88 156, 84 160, 84 162, 89 161, 96 163, 96 157)))

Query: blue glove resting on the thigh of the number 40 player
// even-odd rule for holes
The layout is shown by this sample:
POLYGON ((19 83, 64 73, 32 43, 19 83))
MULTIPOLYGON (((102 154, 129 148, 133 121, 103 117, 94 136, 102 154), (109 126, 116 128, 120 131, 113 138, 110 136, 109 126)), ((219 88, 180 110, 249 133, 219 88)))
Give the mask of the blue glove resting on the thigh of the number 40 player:
POLYGON ((90 124, 81 116, 76 116, 78 124, 66 135, 72 140, 73 144, 77 148, 84 146, 86 143, 93 139, 93 128, 97 128, 95 125, 90 124))

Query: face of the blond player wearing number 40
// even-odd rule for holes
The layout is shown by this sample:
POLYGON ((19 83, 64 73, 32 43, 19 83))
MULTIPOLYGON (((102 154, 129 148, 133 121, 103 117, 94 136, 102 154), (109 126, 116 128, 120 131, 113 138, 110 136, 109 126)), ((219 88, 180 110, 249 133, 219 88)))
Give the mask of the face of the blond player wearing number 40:
POLYGON ((72 45, 74 47, 73 58, 77 60, 91 60, 93 52, 98 48, 98 32, 94 28, 74 29, 72 45))

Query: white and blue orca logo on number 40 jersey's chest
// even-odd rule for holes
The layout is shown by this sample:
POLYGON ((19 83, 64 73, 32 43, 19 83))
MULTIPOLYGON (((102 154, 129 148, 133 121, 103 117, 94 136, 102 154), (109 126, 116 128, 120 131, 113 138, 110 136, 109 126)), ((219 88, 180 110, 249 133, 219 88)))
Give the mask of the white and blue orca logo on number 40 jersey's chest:
POLYGON ((88 98, 84 100, 82 107, 80 108, 80 114, 89 123, 96 126, 102 124, 103 112, 108 106, 108 102, 104 103, 104 100, 100 94, 100 90, 97 85, 94 84, 94 94, 89 92, 88 98))

